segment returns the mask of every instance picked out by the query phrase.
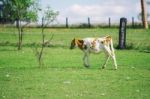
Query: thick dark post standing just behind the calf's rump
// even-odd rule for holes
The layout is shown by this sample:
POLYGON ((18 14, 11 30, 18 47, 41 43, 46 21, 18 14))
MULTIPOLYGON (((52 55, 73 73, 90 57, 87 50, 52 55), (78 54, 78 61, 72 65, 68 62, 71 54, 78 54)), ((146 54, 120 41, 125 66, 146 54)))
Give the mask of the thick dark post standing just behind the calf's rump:
POLYGON ((126 48, 126 18, 120 18, 120 26, 119 26, 119 49, 126 48))

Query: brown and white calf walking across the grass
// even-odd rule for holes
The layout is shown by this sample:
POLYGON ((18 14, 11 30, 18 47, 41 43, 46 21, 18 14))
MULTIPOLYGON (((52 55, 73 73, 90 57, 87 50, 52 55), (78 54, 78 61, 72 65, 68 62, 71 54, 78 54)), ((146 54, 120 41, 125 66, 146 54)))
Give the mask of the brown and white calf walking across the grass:
POLYGON ((89 55, 90 53, 100 53, 104 52, 106 55, 106 60, 102 68, 106 67, 106 64, 111 57, 117 69, 117 62, 113 48, 113 41, 111 36, 101 37, 101 38, 84 38, 84 39, 73 39, 71 42, 70 49, 79 47, 84 52, 84 66, 89 67, 89 55))

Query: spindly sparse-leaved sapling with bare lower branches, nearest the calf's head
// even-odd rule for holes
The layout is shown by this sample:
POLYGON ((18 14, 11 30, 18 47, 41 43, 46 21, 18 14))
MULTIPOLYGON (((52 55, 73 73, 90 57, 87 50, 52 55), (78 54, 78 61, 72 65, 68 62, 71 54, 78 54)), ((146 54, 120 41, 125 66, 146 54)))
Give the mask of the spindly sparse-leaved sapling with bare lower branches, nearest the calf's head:
POLYGON ((45 41, 45 33, 44 30, 45 28, 51 23, 53 22, 56 17, 58 16, 58 11, 54 11, 52 10, 50 7, 47 7, 47 9, 44 11, 44 16, 42 17, 42 25, 41 25, 41 36, 42 36, 42 43, 41 43, 41 48, 38 50, 38 48, 35 48, 35 53, 36 53, 36 57, 39 63, 39 67, 42 67, 44 65, 43 63, 43 51, 44 51, 44 47, 46 46, 47 43, 49 43, 52 39, 53 36, 51 36, 51 38, 48 41, 45 41))

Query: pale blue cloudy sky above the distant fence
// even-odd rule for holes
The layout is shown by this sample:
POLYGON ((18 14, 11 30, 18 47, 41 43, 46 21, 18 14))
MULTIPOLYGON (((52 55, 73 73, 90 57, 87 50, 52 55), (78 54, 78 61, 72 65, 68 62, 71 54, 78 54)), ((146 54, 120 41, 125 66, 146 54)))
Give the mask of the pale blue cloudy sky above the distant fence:
MULTIPOLYGON (((90 17, 91 23, 105 23, 110 17, 112 22, 119 22, 121 17, 136 21, 141 12, 140 0, 39 0, 42 9, 50 6, 59 11, 58 24, 64 24, 68 17, 70 24, 86 23, 90 17)), ((150 1, 150 0, 147 0, 150 1)), ((147 11, 150 5, 147 5, 147 11)), ((42 14, 40 14, 42 16, 42 14)))

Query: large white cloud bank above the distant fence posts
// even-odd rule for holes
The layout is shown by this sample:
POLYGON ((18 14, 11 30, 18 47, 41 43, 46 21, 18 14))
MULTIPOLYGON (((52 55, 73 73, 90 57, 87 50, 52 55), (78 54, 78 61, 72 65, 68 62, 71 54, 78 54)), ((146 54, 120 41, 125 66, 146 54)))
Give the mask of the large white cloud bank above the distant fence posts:
MULTIPOLYGON (((105 1, 101 4, 83 5, 73 4, 60 12, 58 19, 69 17, 72 23, 86 22, 91 17, 95 22, 107 21, 108 17, 118 20, 120 17, 136 17, 140 12, 140 3, 116 0, 105 1)), ((64 19, 63 19, 64 21, 64 19)))

